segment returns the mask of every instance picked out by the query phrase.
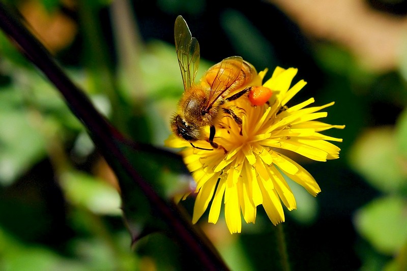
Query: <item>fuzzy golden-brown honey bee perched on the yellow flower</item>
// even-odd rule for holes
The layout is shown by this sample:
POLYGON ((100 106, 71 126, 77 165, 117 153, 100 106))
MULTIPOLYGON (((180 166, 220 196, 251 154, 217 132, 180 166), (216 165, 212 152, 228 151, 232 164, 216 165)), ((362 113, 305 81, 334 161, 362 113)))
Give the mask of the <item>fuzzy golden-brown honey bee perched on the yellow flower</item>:
POLYGON ((206 140, 216 149, 219 146, 213 141, 215 124, 225 115, 238 125, 242 124, 242 119, 227 104, 251 90, 251 87, 244 87, 257 76, 256 69, 242 57, 231 56, 210 67, 199 83, 195 83, 199 43, 192 37, 182 16, 176 19, 174 36, 185 92, 179 100, 177 113, 170 120, 171 130, 194 148, 203 149, 195 147, 193 142, 206 140), (207 126, 210 126, 209 138, 205 138, 207 126))

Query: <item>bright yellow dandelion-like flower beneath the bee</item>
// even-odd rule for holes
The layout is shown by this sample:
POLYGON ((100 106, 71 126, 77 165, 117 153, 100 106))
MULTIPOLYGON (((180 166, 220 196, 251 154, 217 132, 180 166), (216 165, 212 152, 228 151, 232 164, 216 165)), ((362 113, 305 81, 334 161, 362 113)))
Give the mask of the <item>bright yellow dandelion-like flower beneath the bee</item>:
MULTIPOLYGON (((260 79, 265 73, 259 73, 260 79)), ((328 141, 342 140, 319 132, 344 126, 316 121, 326 117, 327 113, 320 111, 334 103, 307 107, 314 102, 310 98, 301 104, 286 106, 306 84, 301 80, 290 87, 296 74, 297 69, 294 68, 276 68, 263 85, 273 91, 269 104, 252 106, 246 95, 230 101, 228 105, 237 110, 235 113, 243 123, 239 126, 230 117, 222 118, 216 126, 214 142, 223 148, 201 150, 175 136, 170 136, 166 141, 170 147, 185 147, 181 154, 196 182, 193 223, 198 221, 211 201, 209 222, 216 223, 222 199, 230 233, 241 232, 242 214, 246 223, 254 223, 259 205, 263 205, 274 225, 283 222, 281 202, 288 210, 296 209, 295 197, 283 174, 313 196, 321 191, 314 178, 302 166, 282 154, 281 150, 316 161, 339 158, 340 149, 328 141)), ((211 149, 206 141, 194 142, 194 145, 211 149)))

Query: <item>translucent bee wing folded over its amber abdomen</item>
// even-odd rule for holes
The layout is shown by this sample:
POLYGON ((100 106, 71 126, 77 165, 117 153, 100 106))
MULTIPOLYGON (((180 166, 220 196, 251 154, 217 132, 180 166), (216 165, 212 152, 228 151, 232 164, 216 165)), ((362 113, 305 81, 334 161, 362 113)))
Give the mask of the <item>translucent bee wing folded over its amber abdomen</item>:
MULTIPOLYGON (((216 64, 215 69, 217 65, 219 65, 217 74, 213 82, 210 83, 211 88, 209 91, 207 109, 212 107, 220 96, 226 94, 225 92, 236 82, 242 70, 243 58, 241 56, 230 56, 223 59, 219 64, 216 64)), ((210 70, 208 72, 210 72, 210 70)))

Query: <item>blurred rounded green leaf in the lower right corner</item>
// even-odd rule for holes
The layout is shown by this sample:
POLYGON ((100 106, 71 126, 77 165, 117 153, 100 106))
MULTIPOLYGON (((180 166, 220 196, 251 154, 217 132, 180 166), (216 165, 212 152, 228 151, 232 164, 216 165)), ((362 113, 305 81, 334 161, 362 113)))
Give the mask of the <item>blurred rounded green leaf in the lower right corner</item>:
POLYGON ((407 199, 377 198, 355 214, 355 227, 376 250, 395 254, 407 242, 407 199))

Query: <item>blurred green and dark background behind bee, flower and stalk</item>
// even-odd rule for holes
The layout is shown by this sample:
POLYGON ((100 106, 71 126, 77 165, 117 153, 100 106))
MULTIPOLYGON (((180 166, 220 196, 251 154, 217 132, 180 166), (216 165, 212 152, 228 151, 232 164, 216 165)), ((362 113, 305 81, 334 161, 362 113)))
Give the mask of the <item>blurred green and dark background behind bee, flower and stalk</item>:
MULTIPOLYGON (((292 103, 335 101, 325 122, 346 128, 327 132, 343 139, 338 160, 295 156, 322 192, 289 183, 298 206, 283 223, 292 269, 407 269, 406 1, 2 2, 114 126, 159 147, 183 91, 178 15, 200 43, 200 74, 231 55, 269 76, 277 65, 297 67, 295 81, 308 84, 292 103)), ((190 214, 193 201, 181 202, 190 214)), ((231 269, 279 266, 262 208, 241 234, 206 219, 198 225, 231 269)), ((162 234, 130 244, 114 174, 55 88, 0 33, 0 269, 188 267, 162 234)))

